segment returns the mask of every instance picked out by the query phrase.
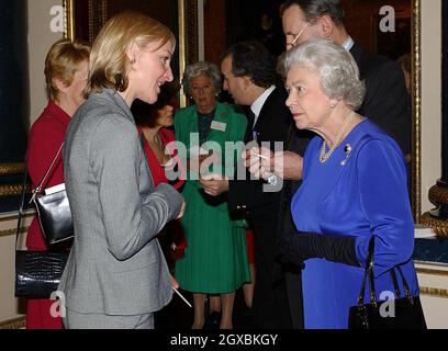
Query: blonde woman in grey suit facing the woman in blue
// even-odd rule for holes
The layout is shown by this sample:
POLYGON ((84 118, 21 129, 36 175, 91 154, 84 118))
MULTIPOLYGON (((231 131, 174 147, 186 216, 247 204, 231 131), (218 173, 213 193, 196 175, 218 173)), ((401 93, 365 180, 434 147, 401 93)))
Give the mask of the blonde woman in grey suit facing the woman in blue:
POLYGON ((165 25, 135 12, 112 18, 93 43, 89 98, 64 148, 75 225, 59 284, 66 328, 154 328, 171 299, 156 236, 184 203, 170 185, 154 186, 130 106, 154 103, 172 80, 175 45, 165 25))

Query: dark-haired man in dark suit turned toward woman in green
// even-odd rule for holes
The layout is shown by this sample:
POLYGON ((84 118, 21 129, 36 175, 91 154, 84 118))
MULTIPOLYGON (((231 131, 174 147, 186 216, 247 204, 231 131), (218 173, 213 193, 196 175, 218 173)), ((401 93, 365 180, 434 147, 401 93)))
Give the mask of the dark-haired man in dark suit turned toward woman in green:
MULTIPOLYGON (((275 84, 276 58, 258 42, 235 44, 223 57, 224 90, 232 94, 235 103, 250 106, 245 143, 262 144, 273 150, 276 141, 281 145, 285 141, 293 122, 284 104, 287 93, 275 84)), ((244 167, 243 171, 243 180, 238 179, 237 170, 234 180, 209 179, 201 183, 211 195, 228 191, 229 208, 244 211, 254 230, 257 279, 251 327, 290 328, 284 280, 275 279, 279 275, 276 270, 280 269, 275 263, 279 189, 272 185, 269 191, 266 182, 250 180, 244 167)))

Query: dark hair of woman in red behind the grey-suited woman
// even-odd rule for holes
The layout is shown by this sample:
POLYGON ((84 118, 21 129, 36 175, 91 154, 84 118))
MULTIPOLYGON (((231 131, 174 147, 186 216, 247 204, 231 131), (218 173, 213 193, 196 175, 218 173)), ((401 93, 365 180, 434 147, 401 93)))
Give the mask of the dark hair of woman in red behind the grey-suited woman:
POLYGON ((175 94, 168 86, 160 87, 160 93, 157 101, 153 104, 135 99, 131 106, 131 112, 134 115, 135 124, 142 127, 153 128, 156 125, 158 112, 166 105, 172 105, 175 94))

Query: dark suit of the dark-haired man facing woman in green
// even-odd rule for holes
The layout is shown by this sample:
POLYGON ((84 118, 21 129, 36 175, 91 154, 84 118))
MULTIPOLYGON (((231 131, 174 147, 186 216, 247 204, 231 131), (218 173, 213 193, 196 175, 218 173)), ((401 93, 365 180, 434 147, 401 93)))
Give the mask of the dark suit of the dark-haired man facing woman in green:
MULTIPOLYGON (((265 145, 270 141, 272 150, 275 149, 273 141, 284 143, 288 132, 293 127, 293 120, 284 104, 285 101, 284 89, 278 87, 266 100, 254 127, 254 131, 257 132, 257 143, 265 145)), ((248 128, 245 141, 251 139, 251 124, 248 128)), ((240 167, 239 165, 238 168, 240 167)), ((257 284, 254 291, 251 327, 290 328, 285 284, 275 280, 275 276, 278 275, 276 272, 280 269, 275 263, 280 192, 264 192, 265 181, 250 180, 245 168, 243 174, 246 174, 247 180, 229 181, 228 204, 231 210, 245 206, 247 218, 254 229, 257 284)))

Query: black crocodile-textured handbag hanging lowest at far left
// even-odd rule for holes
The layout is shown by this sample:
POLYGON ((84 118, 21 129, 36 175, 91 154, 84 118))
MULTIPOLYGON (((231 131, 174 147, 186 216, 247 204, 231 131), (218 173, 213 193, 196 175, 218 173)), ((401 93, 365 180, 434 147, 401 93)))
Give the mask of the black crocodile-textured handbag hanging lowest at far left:
POLYGON ((19 234, 27 169, 22 189, 22 201, 19 207, 18 230, 15 235, 15 297, 48 298, 57 291, 60 276, 67 263, 69 252, 64 251, 26 251, 18 250, 19 234))

